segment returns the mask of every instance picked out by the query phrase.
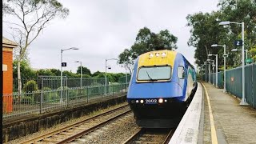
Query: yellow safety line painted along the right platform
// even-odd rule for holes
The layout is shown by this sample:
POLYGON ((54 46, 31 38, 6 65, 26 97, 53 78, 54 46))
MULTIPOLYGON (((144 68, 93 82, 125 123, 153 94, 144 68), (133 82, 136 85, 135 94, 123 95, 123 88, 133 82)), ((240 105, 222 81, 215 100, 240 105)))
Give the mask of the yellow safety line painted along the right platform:
MULTIPOLYGON (((206 90, 206 86, 202 83, 202 86, 205 88, 206 90)), ((207 102, 208 102, 208 107, 209 107, 209 115, 210 115, 210 132, 211 132, 211 143, 214 144, 218 144, 218 140, 217 140, 217 135, 216 135, 216 130, 215 130, 215 126, 214 126, 214 115, 213 112, 211 110, 211 106, 210 106, 210 98, 208 95, 208 92, 206 90, 206 98, 207 98, 207 102)))

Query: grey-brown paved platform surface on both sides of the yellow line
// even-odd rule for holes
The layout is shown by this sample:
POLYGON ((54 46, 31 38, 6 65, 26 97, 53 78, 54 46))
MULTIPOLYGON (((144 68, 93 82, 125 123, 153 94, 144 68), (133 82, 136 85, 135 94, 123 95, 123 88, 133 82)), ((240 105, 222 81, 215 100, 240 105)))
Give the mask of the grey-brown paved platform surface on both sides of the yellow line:
MULTIPOLYGON (((222 89, 217 89, 207 82, 203 84, 210 98, 218 143, 256 144, 256 110, 250 106, 240 106, 240 99, 223 93, 222 89)), ((212 126, 210 126, 208 108, 205 93, 203 143, 212 143, 212 126)))

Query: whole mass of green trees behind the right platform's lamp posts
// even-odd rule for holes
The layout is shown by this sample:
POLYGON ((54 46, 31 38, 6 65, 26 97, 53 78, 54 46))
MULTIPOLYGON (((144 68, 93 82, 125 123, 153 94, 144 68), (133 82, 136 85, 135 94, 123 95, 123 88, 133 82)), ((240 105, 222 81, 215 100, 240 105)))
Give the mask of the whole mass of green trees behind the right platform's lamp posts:
MULTIPOLYGON (((238 52, 231 52, 234 49, 234 40, 242 39, 241 25, 230 24, 230 26, 219 26, 222 21, 245 22, 245 49, 256 44, 256 2, 250 0, 237 1, 221 0, 218 3, 220 10, 212 13, 189 14, 186 19, 187 26, 191 27, 189 46, 196 48, 194 58, 196 63, 202 65, 206 61, 207 54, 218 54, 218 64, 222 67, 223 48, 212 48, 212 44, 226 44, 226 64, 230 67, 240 66, 241 55, 238 52)), ((241 49, 238 47, 238 49, 241 49)))

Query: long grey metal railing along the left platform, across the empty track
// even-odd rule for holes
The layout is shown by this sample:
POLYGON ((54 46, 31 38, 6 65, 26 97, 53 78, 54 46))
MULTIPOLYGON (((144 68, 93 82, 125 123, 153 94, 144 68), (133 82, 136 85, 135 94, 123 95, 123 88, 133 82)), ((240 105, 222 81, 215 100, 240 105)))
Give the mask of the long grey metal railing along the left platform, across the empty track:
POLYGON ((24 94, 3 94, 2 118, 18 117, 26 114, 42 114, 58 108, 74 106, 80 102, 91 102, 94 99, 113 96, 127 92, 128 83, 110 86, 83 86, 62 90, 36 90, 24 94), (105 94, 106 91, 106 94, 105 94), (62 94, 61 94, 62 93, 62 94), (62 102, 61 102, 62 95, 62 102), (11 107, 10 107, 11 106, 11 107))

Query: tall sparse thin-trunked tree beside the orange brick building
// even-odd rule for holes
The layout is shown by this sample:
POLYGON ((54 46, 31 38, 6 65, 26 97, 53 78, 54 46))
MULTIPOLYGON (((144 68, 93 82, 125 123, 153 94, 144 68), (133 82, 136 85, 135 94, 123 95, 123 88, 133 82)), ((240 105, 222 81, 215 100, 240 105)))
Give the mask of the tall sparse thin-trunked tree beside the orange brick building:
POLYGON ((66 18, 69 10, 57 0, 3 0, 3 15, 9 15, 6 22, 12 30, 11 35, 18 43, 18 93, 22 92, 20 64, 27 48, 46 25, 54 18, 66 18), (12 22, 8 20, 12 19, 12 22))

